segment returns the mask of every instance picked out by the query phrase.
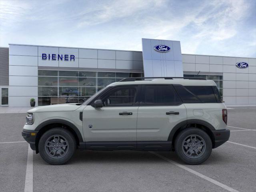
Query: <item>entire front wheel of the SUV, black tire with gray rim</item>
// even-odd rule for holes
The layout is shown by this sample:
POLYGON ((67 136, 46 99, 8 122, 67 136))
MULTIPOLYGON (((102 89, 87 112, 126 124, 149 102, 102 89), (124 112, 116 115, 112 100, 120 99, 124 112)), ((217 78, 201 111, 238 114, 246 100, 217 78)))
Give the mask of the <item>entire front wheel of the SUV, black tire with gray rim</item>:
POLYGON ((69 130, 53 128, 41 136, 38 150, 40 156, 47 163, 61 165, 68 162, 73 156, 76 150, 76 139, 69 130))

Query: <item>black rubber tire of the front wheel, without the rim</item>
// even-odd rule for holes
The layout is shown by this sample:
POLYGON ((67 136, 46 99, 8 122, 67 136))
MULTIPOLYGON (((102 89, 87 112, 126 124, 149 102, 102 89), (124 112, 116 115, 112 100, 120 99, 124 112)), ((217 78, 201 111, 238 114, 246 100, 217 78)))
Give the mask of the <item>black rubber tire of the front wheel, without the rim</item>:
POLYGON ((73 134, 64 128, 53 128, 53 129, 46 131, 41 136, 39 143, 38 143, 38 150, 39 150, 40 156, 46 162, 48 162, 49 164, 53 164, 53 165, 60 165, 60 164, 64 164, 64 163, 68 162, 68 160, 70 160, 70 158, 73 156, 75 149, 76 149, 76 140, 75 140, 73 134), (63 136, 64 138, 66 138, 66 140, 68 142, 67 154, 65 154, 63 157, 58 158, 58 159, 51 158, 45 150, 46 140, 50 136, 53 136, 53 135, 63 136))

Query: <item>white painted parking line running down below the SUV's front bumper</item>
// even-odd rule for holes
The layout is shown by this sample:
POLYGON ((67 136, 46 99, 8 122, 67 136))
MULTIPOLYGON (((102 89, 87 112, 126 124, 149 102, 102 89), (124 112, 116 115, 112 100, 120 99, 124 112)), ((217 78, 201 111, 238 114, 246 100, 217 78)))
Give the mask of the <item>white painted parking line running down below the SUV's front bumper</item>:
POLYGON ((28 145, 28 158, 24 192, 33 192, 33 150, 28 145))

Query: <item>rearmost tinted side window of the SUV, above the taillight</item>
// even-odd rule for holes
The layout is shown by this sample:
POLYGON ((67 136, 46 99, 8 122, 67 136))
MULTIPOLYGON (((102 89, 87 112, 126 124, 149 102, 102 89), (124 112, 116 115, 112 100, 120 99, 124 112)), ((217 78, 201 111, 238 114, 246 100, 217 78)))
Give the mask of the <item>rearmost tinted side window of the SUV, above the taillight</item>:
POLYGON ((204 103, 216 103, 212 86, 185 86, 204 103))

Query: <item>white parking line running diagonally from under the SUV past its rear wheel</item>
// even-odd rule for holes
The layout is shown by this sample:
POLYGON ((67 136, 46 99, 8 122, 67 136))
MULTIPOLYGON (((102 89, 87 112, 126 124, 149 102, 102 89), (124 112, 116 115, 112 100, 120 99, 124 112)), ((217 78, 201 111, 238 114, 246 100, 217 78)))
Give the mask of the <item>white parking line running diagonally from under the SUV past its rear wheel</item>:
POLYGON ((205 175, 203 175, 203 174, 201 174, 201 173, 199 173, 197 171, 194 171, 194 170, 192 170, 192 169, 190 169, 190 168, 188 168, 188 167, 186 167, 186 166, 184 166, 182 164, 179 164, 179 163, 177 163, 177 162, 175 162, 173 160, 170 160, 170 159, 168 159, 168 158, 166 158, 166 157, 164 157, 164 156, 162 156, 162 155, 160 155, 160 154, 158 154, 156 152, 150 152, 150 153, 152 153, 155 156, 158 156, 159 158, 161 158, 163 160, 166 160, 166 161, 168 161, 168 162, 170 162, 170 163, 172 163, 172 164, 174 164, 174 165, 176 165, 176 166, 178 166, 178 167, 180 167, 180 168, 182 168, 182 169, 184 169, 184 170, 186 170, 186 171, 188 171, 188 172, 190 172, 192 174, 195 174, 196 176, 201 177, 201 178, 203 178, 203 179, 205 179, 205 180, 207 180, 207 181, 209 181, 209 182, 211 182, 211 183, 213 183, 213 184, 215 184, 217 186, 220 186, 223 189, 226 189, 226 190, 228 190, 230 192, 239 192, 238 190, 235 190, 235 189, 233 189, 233 188, 231 188, 229 186, 226 186, 223 183, 220 183, 220 182, 218 182, 218 181, 216 181, 216 180, 214 180, 214 179, 212 179, 210 177, 207 177, 207 176, 205 176, 205 175))

